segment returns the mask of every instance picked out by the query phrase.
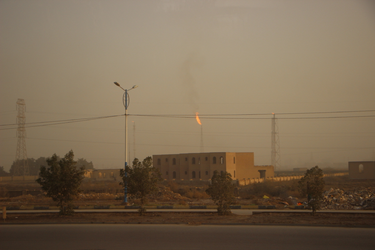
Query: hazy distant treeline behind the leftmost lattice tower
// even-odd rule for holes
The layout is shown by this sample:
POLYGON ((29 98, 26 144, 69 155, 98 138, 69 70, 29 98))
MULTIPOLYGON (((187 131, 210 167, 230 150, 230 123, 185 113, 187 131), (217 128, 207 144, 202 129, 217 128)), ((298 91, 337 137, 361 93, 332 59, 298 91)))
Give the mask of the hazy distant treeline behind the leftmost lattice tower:
MULTIPOLYGON (((48 164, 46 162, 46 159, 48 158, 49 157, 39 157, 38 159, 27 158, 28 169, 29 169, 30 175, 38 175, 40 166, 48 167, 48 164)), ((58 157, 58 160, 60 160, 60 157, 58 157)), ((10 166, 9 172, 6 172, 4 170, 4 167, 0 166, 0 176, 2 177, 2 176, 14 175, 14 169, 15 169, 16 163, 18 163, 18 161, 13 161, 12 166, 10 166)), ((77 160, 76 167, 80 168, 81 166, 85 166, 85 169, 95 169, 93 162, 88 162, 86 159, 83 159, 83 158, 77 160)))

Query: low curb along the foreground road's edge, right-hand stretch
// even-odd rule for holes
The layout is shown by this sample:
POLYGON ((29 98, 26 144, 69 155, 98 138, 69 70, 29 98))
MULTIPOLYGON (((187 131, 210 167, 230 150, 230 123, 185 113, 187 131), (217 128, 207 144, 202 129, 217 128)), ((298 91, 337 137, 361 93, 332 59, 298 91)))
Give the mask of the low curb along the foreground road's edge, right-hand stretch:
POLYGON ((301 224, 301 223, 220 223, 203 222, 202 225, 220 226, 313 226, 313 227, 333 227, 333 228, 375 228, 375 225, 341 225, 341 224, 301 224))

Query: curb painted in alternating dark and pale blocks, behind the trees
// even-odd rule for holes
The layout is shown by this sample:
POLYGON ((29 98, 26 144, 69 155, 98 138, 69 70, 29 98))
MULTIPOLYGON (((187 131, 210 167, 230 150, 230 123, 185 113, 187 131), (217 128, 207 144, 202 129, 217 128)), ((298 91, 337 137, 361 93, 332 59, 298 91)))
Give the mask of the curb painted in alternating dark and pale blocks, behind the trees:
MULTIPOLYGON (((143 206, 146 209, 217 209, 217 206, 143 206)), ((305 209, 304 206, 289 206, 292 209, 305 209), (295 208, 298 207, 298 208, 295 208), (303 208, 302 208, 303 207, 303 208)), ((75 206, 74 209, 139 209, 141 206, 75 206)), ((231 209, 276 209, 269 206, 230 206, 231 209)), ((58 210, 58 207, 6 207, 6 210, 58 210)))

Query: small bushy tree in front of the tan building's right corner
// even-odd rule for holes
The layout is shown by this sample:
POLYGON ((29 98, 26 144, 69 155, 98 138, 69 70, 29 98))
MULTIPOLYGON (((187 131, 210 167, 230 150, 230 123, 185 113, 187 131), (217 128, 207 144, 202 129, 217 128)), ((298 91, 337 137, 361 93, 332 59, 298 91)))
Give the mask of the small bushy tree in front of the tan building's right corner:
POLYGON ((230 205, 234 202, 234 184, 232 184, 232 175, 228 172, 213 172, 211 184, 208 185, 206 193, 217 205, 219 215, 230 215, 230 205))

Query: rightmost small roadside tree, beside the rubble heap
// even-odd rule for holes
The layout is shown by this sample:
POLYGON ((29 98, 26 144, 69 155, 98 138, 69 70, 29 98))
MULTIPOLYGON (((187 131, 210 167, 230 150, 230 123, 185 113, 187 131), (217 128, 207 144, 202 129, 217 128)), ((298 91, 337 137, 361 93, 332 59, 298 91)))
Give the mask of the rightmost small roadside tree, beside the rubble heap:
POLYGON ((305 176, 298 182, 299 192, 302 196, 307 196, 313 216, 323 200, 324 184, 323 171, 318 166, 306 170, 305 176))

